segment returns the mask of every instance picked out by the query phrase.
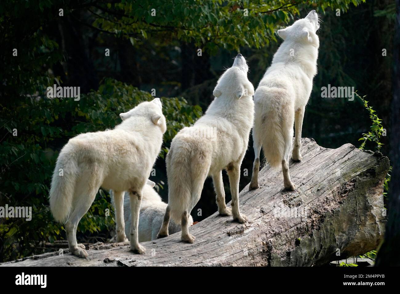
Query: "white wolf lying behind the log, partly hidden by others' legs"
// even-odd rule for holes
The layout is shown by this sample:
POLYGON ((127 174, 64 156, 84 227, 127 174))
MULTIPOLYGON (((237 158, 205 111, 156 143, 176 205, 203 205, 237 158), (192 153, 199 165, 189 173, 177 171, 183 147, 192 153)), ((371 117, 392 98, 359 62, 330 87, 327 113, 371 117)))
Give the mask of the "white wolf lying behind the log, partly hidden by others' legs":
MULTIPOLYGON (((157 233, 161 228, 163 216, 167 204, 162 202, 160 195, 153 189, 155 183, 147 180, 142 190, 142 204, 140 205, 139 215, 139 243, 151 241, 157 238, 157 233)), ((110 190, 111 199, 113 199, 113 192, 110 190)), ((125 192, 124 197, 124 220, 125 220, 125 234, 129 235, 131 226, 131 213, 130 213, 130 199, 129 193, 125 192)), ((189 217, 189 224, 193 223, 192 216, 189 217)), ((180 231, 180 225, 175 222, 170 222, 168 226, 170 234, 180 231)))

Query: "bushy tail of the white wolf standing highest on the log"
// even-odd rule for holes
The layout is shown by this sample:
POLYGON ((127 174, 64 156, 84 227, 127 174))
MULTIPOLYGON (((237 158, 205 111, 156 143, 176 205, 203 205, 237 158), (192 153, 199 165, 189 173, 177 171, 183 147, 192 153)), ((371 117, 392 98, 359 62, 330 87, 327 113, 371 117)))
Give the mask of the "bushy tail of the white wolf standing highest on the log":
POLYGON ((289 123, 286 122, 285 115, 288 110, 285 108, 289 106, 285 105, 284 95, 286 95, 284 89, 265 86, 258 87, 254 94, 256 118, 253 138, 262 144, 264 156, 275 170, 281 168, 287 148, 287 137, 292 136, 286 134, 284 128, 284 125, 289 123))

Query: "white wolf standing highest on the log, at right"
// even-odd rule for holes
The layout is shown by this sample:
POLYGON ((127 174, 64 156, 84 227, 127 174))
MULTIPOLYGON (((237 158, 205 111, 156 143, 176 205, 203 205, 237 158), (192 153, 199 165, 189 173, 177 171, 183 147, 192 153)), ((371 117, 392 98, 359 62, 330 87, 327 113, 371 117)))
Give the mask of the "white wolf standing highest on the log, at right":
POLYGON ((278 35, 284 41, 254 94, 256 114, 252 133, 255 160, 250 190, 258 188, 261 147, 272 168, 282 166, 285 189, 295 189, 290 180, 288 164, 293 123, 296 138, 292 159, 300 161, 304 108, 311 94, 312 79, 317 72, 319 39, 316 31, 319 27, 318 15, 312 10, 306 18, 278 30, 278 35))

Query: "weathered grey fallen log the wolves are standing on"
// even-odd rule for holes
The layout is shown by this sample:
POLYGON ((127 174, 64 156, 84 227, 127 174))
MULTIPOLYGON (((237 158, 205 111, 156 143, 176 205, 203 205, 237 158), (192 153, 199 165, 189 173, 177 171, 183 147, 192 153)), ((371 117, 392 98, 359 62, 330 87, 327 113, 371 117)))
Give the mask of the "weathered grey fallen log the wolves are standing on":
POLYGON ((302 141, 302 162, 290 162, 296 191, 283 191, 282 172, 265 166, 260 188, 246 186, 239 196, 246 224, 215 213, 190 228, 194 244, 180 242, 176 233, 142 243, 145 255, 130 252, 128 243, 100 243, 87 248, 87 260, 65 250, 63 256, 48 253, 1 265, 311 266, 375 249, 385 226, 388 158, 351 144, 327 149, 313 139, 302 141))

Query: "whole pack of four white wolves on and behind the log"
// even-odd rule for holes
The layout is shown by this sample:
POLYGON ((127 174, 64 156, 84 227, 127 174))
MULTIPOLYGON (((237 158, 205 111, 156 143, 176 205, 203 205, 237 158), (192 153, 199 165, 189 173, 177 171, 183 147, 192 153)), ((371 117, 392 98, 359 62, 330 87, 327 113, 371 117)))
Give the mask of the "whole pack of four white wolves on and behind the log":
POLYGON ((319 26, 318 14, 312 10, 278 30, 283 42, 256 91, 247 78, 245 58, 236 56, 232 67, 218 79, 212 93, 215 98, 205 114, 180 130, 171 142, 166 156, 168 204, 148 180, 166 132, 159 98, 121 113, 122 123, 112 130, 71 138, 58 156, 49 200, 54 219, 65 223, 70 252, 88 257, 85 246, 76 240, 76 229, 100 187, 110 190, 112 196, 116 242, 129 241, 130 250, 138 254, 146 252, 140 242, 179 231, 182 241, 196 240, 189 232, 193 223, 190 213, 208 176, 212 177, 219 214, 232 216, 241 224, 247 222, 239 207, 239 180, 251 130, 255 160, 249 189, 259 187, 262 148, 271 168, 282 168, 284 188, 295 190, 288 162, 290 153, 292 160, 302 160, 302 123, 317 72, 319 26), (215 130, 215 136, 193 135, 205 128, 215 130), (225 203, 222 170, 229 178, 231 208, 225 203))

